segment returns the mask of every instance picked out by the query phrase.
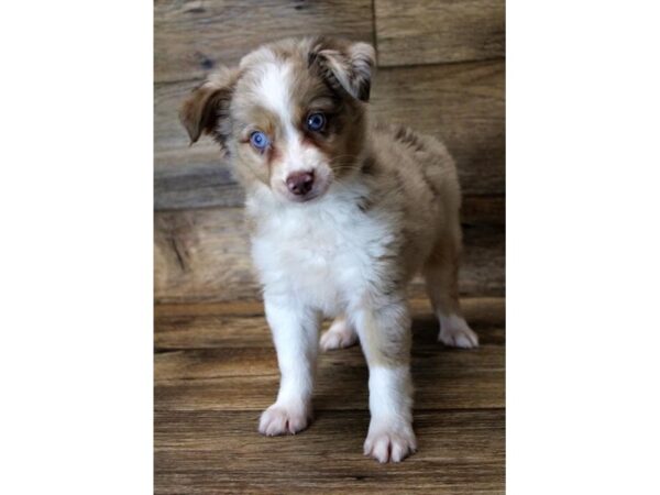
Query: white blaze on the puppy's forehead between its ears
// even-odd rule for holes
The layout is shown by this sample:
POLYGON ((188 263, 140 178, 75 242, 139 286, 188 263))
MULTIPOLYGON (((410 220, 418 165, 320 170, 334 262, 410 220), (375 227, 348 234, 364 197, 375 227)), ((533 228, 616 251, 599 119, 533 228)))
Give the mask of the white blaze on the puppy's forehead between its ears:
POLYGON ((293 131, 293 67, 286 63, 270 63, 263 67, 257 92, 264 107, 275 112, 285 125, 287 134, 293 131))

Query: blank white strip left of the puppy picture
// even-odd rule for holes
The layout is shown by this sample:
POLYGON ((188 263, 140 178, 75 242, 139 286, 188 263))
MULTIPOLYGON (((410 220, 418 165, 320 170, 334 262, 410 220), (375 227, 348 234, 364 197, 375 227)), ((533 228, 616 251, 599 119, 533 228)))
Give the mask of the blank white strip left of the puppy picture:
POLYGON ((153 490, 152 9, 1 9, 0 493, 153 490))

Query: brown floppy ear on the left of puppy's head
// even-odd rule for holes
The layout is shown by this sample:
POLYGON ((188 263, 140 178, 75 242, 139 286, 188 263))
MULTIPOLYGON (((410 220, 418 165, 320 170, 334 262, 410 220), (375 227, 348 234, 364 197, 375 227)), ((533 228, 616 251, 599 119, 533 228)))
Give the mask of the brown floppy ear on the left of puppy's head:
POLYGON ((224 147, 230 133, 229 106, 238 79, 238 68, 221 68, 184 101, 179 119, 188 131, 190 144, 201 134, 210 134, 224 147))

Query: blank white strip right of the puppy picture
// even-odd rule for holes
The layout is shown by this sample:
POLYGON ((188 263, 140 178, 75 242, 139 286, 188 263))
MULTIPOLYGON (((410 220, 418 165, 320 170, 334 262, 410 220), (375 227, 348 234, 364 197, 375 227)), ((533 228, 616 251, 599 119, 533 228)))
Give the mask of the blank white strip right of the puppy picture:
POLYGON ((507 11, 507 492, 660 493, 658 3, 507 11))

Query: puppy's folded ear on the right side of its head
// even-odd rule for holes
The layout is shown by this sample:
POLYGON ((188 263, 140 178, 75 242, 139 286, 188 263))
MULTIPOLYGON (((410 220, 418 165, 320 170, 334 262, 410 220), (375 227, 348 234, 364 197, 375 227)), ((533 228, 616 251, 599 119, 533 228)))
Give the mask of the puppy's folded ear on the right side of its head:
POLYGON ((321 38, 309 54, 309 66, 317 66, 321 76, 336 89, 369 101, 376 51, 369 43, 349 43, 321 38))

